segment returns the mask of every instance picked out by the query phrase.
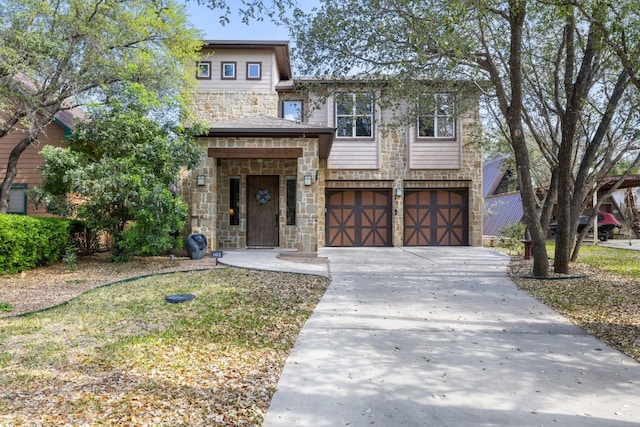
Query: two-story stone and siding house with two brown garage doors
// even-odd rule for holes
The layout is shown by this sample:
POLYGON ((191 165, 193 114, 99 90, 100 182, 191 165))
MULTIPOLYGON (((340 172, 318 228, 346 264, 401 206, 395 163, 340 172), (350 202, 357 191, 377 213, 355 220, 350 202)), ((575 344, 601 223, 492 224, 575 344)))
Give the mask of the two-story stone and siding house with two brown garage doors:
POLYGON ((183 196, 210 249, 481 245, 478 121, 450 95, 387 133, 391 112, 348 82, 310 108, 288 42, 206 42, 197 77, 211 126, 183 196))

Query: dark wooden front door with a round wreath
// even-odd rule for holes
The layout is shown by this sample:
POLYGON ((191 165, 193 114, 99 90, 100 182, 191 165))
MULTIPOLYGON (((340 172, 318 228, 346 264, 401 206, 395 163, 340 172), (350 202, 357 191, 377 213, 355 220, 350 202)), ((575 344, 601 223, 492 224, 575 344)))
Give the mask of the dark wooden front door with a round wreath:
POLYGON ((247 176, 247 246, 279 245, 278 187, 278 176, 247 176))

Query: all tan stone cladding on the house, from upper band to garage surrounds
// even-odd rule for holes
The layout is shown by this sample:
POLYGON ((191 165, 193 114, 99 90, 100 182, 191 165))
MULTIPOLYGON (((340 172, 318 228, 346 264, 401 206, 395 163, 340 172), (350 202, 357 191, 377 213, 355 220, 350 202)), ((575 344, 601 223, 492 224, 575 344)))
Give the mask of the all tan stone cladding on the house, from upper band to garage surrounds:
MULTIPOLYGON (((278 116, 278 95, 268 91, 226 92, 203 91, 196 96, 197 113, 209 122, 229 120, 245 116, 278 116)), ((241 172, 240 163, 219 171, 215 159, 203 156, 201 167, 193 176, 204 174, 206 185, 197 187, 192 182, 183 190, 191 200, 191 232, 203 233, 209 240, 210 249, 216 247, 244 247, 246 245, 246 212, 241 216, 241 225, 233 230, 229 224, 228 178, 241 178, 241 206, 246 206, 246 175, 273 174, 280 176, 280 246, 304 252, 315 252, 325 245, 325 189, 333 188, 468 188, 469 189, 469 242, 482 245, 482 157, 481 150, 472 143, 476 119, 467 117, 461 124, 461 167, 451 170, 408 169, 408 146, 406 129, 395 129, 380 137, 380 168, 377 170, 328 170, 326 160, 319 161, 317 141, 308 139, 269 138, 216 138, 201 139, 206 147, 303 147, 304 155, 298 159, 297 167, 285 165, 283 161, 256 159, 244 161, 246 169, 241 172), (266 162, 266 163, 265 163, 266 162), (282 169, 280 169, 282 168, 282 169), (233 171, 233 172, 231 172, 233 171), (236 171, 238 172, 236 174, 236 171), (316 180, 316 171, 318 179, 316 180), (304 175, 314 177, 313 184, 305 187, 304 175), (297 178, 297 224, 286 226, 285 178, 297 178), (225 188, 226 187, 226 188, 225 188), (216 197, 218 194, 218 197, 216 197), (226 199, 225 199, 226 197, 226 199), (243 198, 244 197, 244 198, 243 198), (221 206, 221 210, 218 209, 221 206), (221 213, 218 218, 218 212, 221 213)), ((225 165, 225 162, 222 163, 225 165)), ((187 180, 183 180, 187 181, 187 180)), ((403 192, 404 194, 404 192, 403 192)), ((242 212, 241 208, 241 212, 242 212)), ((402 246, 403 196, 393 196, 393 245, 402 246)))

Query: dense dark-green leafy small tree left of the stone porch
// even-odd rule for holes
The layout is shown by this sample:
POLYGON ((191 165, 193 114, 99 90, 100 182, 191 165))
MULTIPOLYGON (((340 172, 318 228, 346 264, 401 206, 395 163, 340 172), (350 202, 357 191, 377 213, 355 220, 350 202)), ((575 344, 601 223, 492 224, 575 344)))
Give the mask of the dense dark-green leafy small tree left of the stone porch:
POLYGON ((108 106, 89 111, 66 148, 45 147, 42 188, 34 191, 48 211, 86 221, 114 237, 115 260, 159 254, 174 247, 187 205, 169 186, 200 158, 193 141, 201 129, 183 129, 151 117, 166 112, 140 85, 127 85, 108 106), (75 199, 70 201, 69 194, 75 199))

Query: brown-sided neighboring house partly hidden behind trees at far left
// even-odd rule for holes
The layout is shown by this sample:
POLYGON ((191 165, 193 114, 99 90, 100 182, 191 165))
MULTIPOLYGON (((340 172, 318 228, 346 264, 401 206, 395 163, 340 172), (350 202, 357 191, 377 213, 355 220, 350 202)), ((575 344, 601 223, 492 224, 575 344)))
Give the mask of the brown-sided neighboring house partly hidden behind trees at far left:
MULTIPOLYGON (((7 213, 26 214, 32 216, 50 216, 40 207, 36 209, 27 198, 27 191, 42 183, 40 166, 44 158, 40 150, 45 145, 61 146, 61 141, 68 135, 74 126, 74 119, 80 114, 77 110, 59 112, 53 122, 45 127, 38 139, 31 144, 18 160, 18 173, 11 184, 9 195, 9 209, 7 213)), ((23 138, 20 128, 15 129, 0 140, 0 180, 7 173, 7 160, 11 150, 23 138)))

